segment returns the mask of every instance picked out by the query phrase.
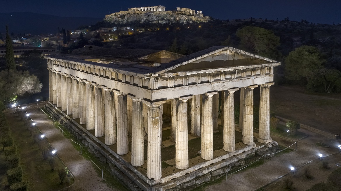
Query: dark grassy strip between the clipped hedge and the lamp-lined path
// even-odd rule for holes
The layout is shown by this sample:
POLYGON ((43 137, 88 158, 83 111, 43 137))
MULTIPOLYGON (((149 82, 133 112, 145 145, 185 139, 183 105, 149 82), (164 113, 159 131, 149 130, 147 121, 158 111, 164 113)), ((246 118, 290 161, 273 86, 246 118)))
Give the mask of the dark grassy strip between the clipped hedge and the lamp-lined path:
MULTIPOLYGON (((65 169, 62 161, 56 157, 55 170, 51 170, 48 160, 43 159, 38 143, 33 142, 33 137, 20 117, 15 114, 8 114, 6 118, 9 122, 14 144, 17 146, 19 162, 23 169, 23 179, 28 182, 28 190, 46 191, 60 190, 73 184, 73 178, 69 183, 60 184, 58 176, 59 169, 65 169)), ((38 129, 35 129, 39 132, 38 129)), ((43 147, 48 147, 46 140, 43 147)), ((49 157, 51 158, 51 156, 49 157)))

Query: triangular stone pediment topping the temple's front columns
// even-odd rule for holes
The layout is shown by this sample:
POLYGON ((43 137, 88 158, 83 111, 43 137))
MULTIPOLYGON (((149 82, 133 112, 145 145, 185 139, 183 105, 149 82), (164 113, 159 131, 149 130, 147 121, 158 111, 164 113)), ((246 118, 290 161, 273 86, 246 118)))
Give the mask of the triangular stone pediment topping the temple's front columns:
POLYGON ((277 61, 232 47, 216 46, 173 60, 172 62, 162 64, 159 68, 163 69, 155 74, 236 66, 253 66, 266 63, 277 63, 277 61))

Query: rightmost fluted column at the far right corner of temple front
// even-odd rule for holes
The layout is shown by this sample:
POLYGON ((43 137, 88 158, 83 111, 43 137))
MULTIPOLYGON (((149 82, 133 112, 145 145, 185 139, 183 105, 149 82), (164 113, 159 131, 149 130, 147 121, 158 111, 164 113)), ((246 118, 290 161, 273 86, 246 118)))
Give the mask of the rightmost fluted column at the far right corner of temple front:
POLYGON ((257 138, 258 142, 271 142, 270 138, 270 86, 274 83, 261 85, 261 96, 259 102, 259 131, 257 138))

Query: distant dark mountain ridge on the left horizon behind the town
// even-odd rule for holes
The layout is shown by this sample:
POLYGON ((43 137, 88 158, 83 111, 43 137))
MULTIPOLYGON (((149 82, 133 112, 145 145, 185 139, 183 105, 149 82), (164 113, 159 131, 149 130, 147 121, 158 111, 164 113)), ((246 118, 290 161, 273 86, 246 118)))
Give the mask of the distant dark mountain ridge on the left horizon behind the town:
POLYGON ((0 13, 0 32, 5 32, 8 24, 10 33, 15 34, 46 34, 57 33, 58 27, 66 30, 75 30, 79 25, 95 24, 101 18, 87 17, 59 17, 38 13, 0 13))

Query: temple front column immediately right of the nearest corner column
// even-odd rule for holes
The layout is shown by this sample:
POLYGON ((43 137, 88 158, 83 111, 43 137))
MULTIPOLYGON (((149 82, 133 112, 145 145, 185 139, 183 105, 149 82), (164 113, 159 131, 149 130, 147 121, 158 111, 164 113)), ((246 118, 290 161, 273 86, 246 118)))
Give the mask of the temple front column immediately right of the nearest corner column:
POLYGON ((176 101, 176 138, 175 138, 175 167, 184 170, 188 168, 188 128, 187 128, 187 100, 176 101))

